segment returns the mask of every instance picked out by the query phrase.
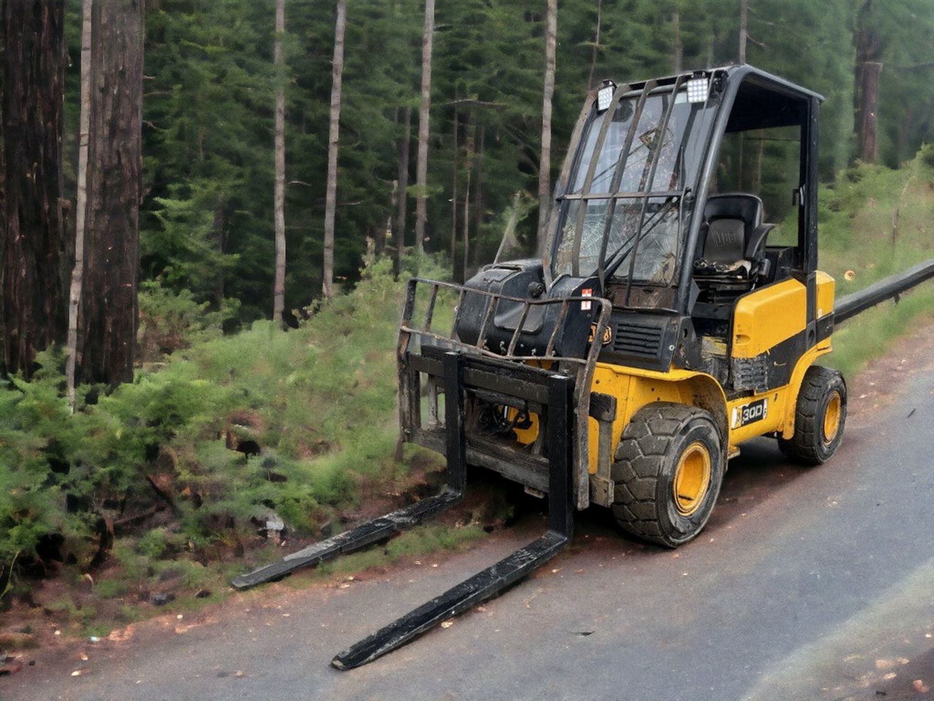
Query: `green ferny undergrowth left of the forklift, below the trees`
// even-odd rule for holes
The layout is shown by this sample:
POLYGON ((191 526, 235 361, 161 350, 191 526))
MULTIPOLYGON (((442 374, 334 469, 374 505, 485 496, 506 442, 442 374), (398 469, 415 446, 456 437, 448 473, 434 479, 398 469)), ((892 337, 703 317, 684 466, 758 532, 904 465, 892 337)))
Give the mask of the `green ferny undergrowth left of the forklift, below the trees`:
MULTIPOLYGON (((430 260, 421 272, 444 275, 430 260)), ((244 546, 268 516, 289 537, 317 537, 398 493, 414 464, 436 468, 410 447, 394 458, 403 291, 380 260, 288 333, 256 322, 221 336, 196 323, 190 348, 132 384, 79 388, 74 414, 63 354, 41 354, 31 381, 0 388, 0 593, 24 594, 21 575, 56 561, 107 570, 92 590, 102 599, 217 590, 267 556, 244 546)))

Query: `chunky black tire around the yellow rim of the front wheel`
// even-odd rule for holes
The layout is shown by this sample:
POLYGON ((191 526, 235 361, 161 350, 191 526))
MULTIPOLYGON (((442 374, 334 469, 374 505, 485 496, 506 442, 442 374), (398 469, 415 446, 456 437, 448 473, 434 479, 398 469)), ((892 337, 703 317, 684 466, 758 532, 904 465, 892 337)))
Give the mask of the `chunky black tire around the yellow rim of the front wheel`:
POLYGON ((649 542, 667 548, 684 545, 701 533, 710 518, 723 469, 720 434, 710 413, 681 404, 650 404, 632 417, 616 449, 612 471, 616 522, 649 542), (675 505, 672 481, 681 455, 697 441, 710 454, 710 481, 697 510, 684 516, 675 505))

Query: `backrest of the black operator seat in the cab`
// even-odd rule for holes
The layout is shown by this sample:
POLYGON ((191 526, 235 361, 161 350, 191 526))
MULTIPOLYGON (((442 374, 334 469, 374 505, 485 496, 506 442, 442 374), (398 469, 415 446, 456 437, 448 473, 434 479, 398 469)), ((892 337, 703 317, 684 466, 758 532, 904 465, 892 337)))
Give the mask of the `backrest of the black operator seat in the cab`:
POLYGON ((762 224, 762 200, 755 194, 715 194, 703 210, 707 225, 702 258, 714 263, 757 260, 771 225, 762 224))

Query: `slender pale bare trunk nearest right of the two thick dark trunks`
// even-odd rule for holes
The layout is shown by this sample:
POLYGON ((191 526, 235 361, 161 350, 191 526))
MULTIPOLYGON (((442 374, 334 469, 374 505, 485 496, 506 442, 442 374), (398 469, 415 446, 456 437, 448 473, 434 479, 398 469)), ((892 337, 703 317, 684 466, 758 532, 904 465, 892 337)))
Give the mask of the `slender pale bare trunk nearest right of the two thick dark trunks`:
POLYGON ((286 31, 286 2, 276 0, 276 43, 273 63, 278 71, 276 91, 276 184, 273 193, 273 218, 276 224, 276 281, 273 283, 273 322, 285 328, 282 314, 286 308, 286 85, 282 61, 282 35, 286 31))

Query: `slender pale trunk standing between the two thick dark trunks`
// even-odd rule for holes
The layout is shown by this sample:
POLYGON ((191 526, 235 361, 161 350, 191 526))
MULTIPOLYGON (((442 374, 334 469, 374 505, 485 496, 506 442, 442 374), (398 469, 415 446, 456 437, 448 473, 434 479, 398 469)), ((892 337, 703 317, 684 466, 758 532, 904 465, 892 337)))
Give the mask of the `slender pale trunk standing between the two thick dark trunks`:
POLYGON ((91 42, 93 0, 81 2, 81 107, 78 117, 78 191, 75 198, 75 268, 68 295, 68 361, 65 386, 68 406, 75 409, 75 370, 78 357, 78 309, 84 279, 84 227, 88 211, 88 143, 91 140, 91 42))

